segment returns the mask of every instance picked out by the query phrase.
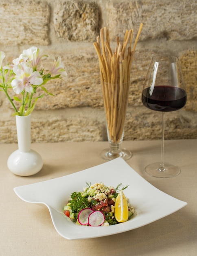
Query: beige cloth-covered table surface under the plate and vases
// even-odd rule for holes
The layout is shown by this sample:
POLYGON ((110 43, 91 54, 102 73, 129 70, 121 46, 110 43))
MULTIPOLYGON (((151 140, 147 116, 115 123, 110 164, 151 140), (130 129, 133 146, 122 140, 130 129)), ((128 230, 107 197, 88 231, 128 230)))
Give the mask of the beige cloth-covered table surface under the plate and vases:
POLYGON ((127 163, 153 186, 187 202, 186 207, 138 229, 83 240, 61 237, 48 208, 22 201, 13 188, 102 164, 105 161, 99 154, 108 142, 32 144, 31 148, 42 155, 44 166, 30 177, 14 175, 7 168, 7 159, 18 146, 0 144, 0 255, 197 255, 197 139, 165 141, 166 162, 182 170, 178 176, 166 179, 144 173, 147 164, 160 161, 160 144, 161 141, 124 141, 123 146, 132 152, 127 163))

